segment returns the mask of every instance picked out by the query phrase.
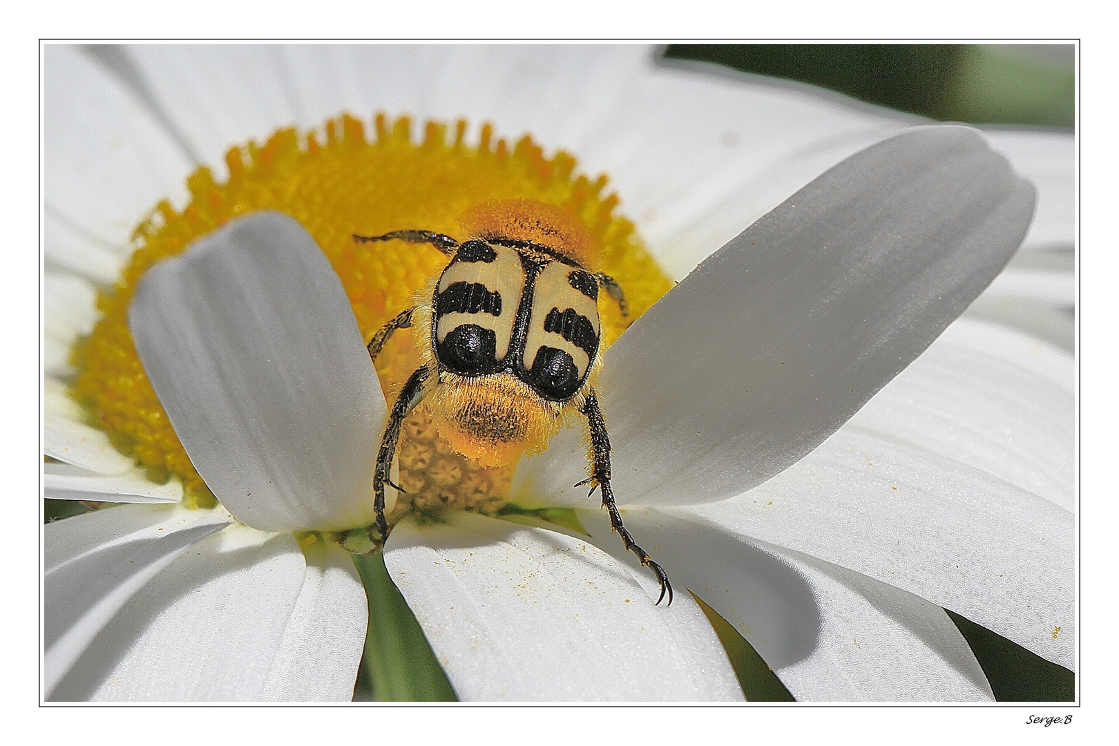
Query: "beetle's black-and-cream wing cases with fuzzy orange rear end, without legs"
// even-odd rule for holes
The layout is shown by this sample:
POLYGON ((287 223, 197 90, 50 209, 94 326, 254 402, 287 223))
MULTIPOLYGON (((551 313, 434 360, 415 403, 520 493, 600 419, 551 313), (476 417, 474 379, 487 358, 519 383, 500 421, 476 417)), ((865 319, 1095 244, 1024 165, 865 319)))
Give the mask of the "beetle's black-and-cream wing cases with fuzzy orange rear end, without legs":
POLYGON ((598 285, 554 249, 473 239, 419 299, 440 435, 485 466, 543 451, 601 367, 598 285))

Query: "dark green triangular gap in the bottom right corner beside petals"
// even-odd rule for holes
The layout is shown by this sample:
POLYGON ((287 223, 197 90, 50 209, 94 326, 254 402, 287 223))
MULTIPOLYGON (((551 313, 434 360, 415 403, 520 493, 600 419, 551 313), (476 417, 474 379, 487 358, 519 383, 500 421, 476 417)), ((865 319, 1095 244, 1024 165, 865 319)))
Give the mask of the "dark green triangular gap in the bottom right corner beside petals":
POLYGON ((1075 674, 947 608, 1000 702, 1071 702, 1075 674))

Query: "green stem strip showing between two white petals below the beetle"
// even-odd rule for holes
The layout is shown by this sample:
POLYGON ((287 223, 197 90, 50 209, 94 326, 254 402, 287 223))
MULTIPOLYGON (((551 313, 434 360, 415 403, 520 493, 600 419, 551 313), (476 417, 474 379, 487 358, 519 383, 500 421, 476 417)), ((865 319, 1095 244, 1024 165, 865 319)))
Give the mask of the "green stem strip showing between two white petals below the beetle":
POLYGON ((453 702, 454 689, 379 553, 354 555, 369 601, 369 627, 354 699, 453 702))

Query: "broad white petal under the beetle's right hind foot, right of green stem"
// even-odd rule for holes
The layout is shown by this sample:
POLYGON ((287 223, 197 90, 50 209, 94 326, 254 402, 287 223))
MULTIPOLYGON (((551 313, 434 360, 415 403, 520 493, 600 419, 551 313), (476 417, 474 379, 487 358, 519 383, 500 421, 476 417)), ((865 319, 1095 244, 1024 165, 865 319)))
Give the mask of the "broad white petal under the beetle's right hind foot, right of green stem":
POLYGON ((580 539, 470 513, 398 523, 385 565, 464 701, 741 700, 687 594, 580 539), (543 674, 542 672, 546 672, 543 674))

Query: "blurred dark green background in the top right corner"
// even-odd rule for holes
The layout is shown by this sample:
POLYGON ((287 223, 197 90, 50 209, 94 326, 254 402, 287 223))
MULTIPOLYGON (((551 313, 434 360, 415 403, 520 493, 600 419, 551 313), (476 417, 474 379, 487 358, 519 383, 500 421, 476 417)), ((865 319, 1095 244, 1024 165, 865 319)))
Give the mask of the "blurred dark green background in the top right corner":
POLYGON ((1071 44, 678 44, 669 59, 811 83, 930 119, 1071 129, 1071 44))

